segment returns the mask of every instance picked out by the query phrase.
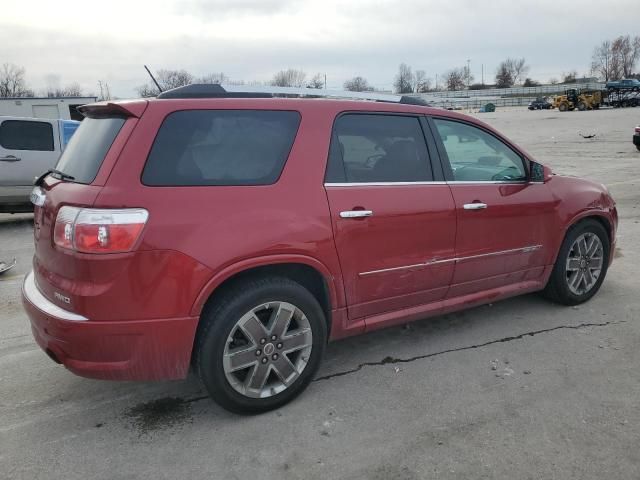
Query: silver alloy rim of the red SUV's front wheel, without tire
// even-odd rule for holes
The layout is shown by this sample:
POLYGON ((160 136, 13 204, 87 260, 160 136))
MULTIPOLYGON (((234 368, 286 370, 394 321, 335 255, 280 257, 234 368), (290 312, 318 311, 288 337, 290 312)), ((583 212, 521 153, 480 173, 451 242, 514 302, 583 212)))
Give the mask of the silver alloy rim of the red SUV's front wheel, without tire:
POLYGON ((602 241, 594 233, 576 238, 567 257, 567 286, 574 295, 584 295, 598 282, 604 262, 602 241))

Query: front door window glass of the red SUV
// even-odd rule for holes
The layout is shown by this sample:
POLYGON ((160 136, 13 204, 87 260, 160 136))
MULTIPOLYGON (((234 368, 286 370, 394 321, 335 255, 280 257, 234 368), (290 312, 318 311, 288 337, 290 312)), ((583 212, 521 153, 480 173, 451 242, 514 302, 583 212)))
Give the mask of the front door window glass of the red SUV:
POLYGON ((520 155, 493 135, 471 125, 434 118, 449 158, 453 180, 458 182, 525 181, 520 155))

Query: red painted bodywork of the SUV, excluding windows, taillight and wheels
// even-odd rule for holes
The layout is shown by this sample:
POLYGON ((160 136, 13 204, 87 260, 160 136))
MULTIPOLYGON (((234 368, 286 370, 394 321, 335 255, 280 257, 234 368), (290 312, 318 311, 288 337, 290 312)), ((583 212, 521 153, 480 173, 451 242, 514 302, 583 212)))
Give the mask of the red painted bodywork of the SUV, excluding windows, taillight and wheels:
POLYGON ((50 303, 88 320, 54 318, 28 298, 25 309, 38 344, 79 375, 184 377, 207 299, 225 280, 255 267, 315 269, 327 287, 335 340, 540 290, 567 229, 586 216, 605 220, 615 242, 613 200, 602 186, 580 179, 325 187, 332 126, 340 113, 438 115, 495 132, 453 112, 310 99, 145 100, 123 108, 132 117, 95 181, 81 185, 48 177, 45 204, 35 213, 37 287, 50 303), (141 172, 163 120, 190 109, 299 112, 300 127, 279 180, 241 187, 143 185, 141 172), (474 201, 490 208, 463 208, 474 201), (132 252, 78 254, 53 245, 63 205, 144 208, 149 218, 132 252), (375 215, 339 216, 359 208, 375 215), (485 256, 527 246, 539 248, 485 256))

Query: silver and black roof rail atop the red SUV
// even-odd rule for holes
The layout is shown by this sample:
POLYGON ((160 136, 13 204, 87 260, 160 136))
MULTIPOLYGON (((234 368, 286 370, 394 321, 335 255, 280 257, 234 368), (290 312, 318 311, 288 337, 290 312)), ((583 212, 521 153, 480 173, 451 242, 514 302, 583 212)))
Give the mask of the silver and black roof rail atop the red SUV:
POLYGON ((350 92, 298 87, 272 87, 253 85, 191 84, 167 90, 157 98, 272 98, 274 96, 297 96, 312 98, 351 98, 377 102, 404 103, 410 105, 429 104, 419 97, 392 95, 376 92, 350 92))

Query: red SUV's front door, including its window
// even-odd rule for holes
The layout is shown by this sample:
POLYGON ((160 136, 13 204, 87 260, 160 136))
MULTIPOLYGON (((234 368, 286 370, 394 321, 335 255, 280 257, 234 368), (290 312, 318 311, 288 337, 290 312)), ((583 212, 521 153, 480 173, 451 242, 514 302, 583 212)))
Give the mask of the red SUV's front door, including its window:
POLYGON ((554 200, 528 180, 525 160, 488 130, 434 118, 458 216, 448 297, 537 280, 551 244, 554 200))

